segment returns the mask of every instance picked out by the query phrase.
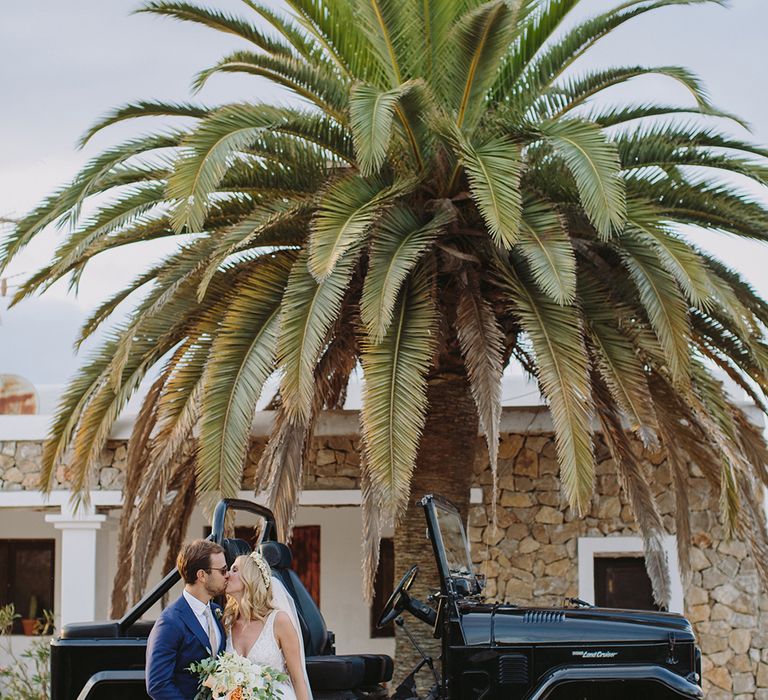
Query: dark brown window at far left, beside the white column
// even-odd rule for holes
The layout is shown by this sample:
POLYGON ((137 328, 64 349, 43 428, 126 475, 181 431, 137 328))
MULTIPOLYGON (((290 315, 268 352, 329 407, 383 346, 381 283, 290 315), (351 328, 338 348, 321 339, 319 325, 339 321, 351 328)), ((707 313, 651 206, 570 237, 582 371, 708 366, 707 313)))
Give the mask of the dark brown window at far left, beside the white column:
MULTIPOLYGON (((13 603, 23 618, 53 612, 54 571, 54 540, 0 540, 0 605, 13 603)), ((21 631, 16 620, 13 633, 21 631)))

